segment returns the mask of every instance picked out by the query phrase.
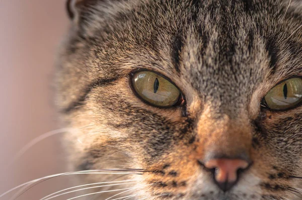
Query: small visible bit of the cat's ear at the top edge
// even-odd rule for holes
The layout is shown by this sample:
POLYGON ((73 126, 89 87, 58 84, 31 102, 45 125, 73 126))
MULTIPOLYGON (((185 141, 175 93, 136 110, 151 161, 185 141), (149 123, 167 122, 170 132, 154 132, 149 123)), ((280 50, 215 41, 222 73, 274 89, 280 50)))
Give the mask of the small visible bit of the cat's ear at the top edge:
POLYGON ((70 20, 78 20, 81 10, 93 5, 97 0, 67 0, 66 10, 70 20))

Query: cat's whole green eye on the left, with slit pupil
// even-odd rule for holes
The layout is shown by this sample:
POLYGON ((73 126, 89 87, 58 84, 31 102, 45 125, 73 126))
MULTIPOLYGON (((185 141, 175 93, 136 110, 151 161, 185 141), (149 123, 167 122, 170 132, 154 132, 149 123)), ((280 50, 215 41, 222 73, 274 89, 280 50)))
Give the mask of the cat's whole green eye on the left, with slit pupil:
POLYGON ((134 73, 132 85, 138 96, 154 106, 176 106, 181 98, 179 89, 173 83, 151 71, 134 73))

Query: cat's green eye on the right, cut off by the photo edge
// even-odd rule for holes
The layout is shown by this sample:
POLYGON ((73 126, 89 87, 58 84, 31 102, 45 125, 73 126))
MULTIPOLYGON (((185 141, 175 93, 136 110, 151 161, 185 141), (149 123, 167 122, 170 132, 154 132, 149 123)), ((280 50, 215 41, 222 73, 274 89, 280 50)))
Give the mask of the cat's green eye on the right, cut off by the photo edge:
POLYGON ((302 102, 302 78, 290 78, 272 88, 262 105, 271 110, 287 110, 302 102))

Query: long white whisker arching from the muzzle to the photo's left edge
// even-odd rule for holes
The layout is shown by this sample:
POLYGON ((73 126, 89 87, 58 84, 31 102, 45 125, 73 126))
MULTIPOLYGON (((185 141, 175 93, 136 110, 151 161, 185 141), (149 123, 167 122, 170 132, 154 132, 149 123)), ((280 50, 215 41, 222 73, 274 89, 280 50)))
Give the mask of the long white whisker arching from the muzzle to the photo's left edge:
MULTIPOLYGON (((8 194, 8 193, 10 193, 10 192, 18 189, 18 188, 20 188, 20 187, 23 187, 25 185, 30 185, 30 184, 38 182, 40 180, 42 180, 42 181, 36 183, 35 185, 37 185, 37 184, 39 184, 41 182, 44 182, 46 180, 49 180, 51 178, 58 177, 58 176, 74 175, 74 174, 88 174, 88 172, 95 172, 95 171, 118 171, 118 169, 95 169, 95 170, 71 171, 71 172, 65 172, 65 173, 58 173, 58 174, 48 175, 48 176, 44 176, 44 177, 37 178, 37 179, 31 180, 31 181, 25 182, 23 184, 20 184, 20 185, 14 187, 14 188, 12 188, 12 189, 10 189, 10 190, 2 193, 2 194, 0 194, 0 198, 3 197, 3 196, 5 196, 6 194, 8 194)), ((120 169, 119 171, 128 171, 128 170, 120 169)), ((134 170, 129 170, 129 171, 134 171, 134 170)), ((115 173, 113 173, 113 172, 107 172, 107 174, 115 174, 115 173)), ((120 174, 120 173, 118 173, 118 174, 120 174)), ((137 173, 126 173, 125 175, 128 175, 128 174, 137 174, 137 173)), ((34 187, 35 185, 31 186, 30 188, 34 187)), ((28 188, 27 190, 29 190, 30 188, 28 188)), ((24 191, 24 192, 26 192, 26 191, 24 191)), ((22 195, 23 193, 21 193, 20 195, 22 195)), ((19 196, 17 196, 17 197, 19 197, 19 196)))

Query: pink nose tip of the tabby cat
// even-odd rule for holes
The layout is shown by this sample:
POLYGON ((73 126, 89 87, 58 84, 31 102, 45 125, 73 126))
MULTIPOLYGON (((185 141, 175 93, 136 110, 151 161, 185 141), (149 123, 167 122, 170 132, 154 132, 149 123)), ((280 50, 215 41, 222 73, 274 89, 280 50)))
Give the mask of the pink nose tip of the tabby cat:
POLYGON ((249 163, 242 159, 212 159, 204 163, 208 169, 215 169, 215 183, 223 191, 231 189, 237 182, 240 169, 246 169, 249 163))

